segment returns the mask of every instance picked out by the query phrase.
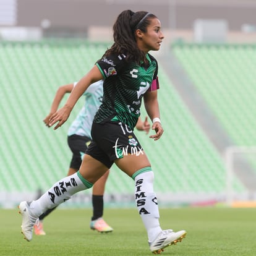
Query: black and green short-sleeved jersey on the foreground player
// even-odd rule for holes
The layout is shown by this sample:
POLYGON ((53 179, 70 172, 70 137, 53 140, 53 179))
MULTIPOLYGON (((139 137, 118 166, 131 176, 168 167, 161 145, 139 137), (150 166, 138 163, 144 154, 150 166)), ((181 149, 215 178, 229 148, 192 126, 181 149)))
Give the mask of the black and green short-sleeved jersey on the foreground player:
POLYGON ((121 121, 133 130, 144 93, 158 88, 158 64, 150 54, 147 54, 147 68, 143 64, 127 63, 125 59, 124 55, 111 55, 96 63, 105 80, 103 102, 94 121, 121 121))

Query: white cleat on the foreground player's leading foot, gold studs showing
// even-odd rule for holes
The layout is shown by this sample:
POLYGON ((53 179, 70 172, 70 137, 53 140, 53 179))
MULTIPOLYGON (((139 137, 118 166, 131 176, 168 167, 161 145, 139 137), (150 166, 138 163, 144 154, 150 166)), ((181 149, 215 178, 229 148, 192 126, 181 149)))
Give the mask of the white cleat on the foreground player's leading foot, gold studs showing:
POLYGON ((156 239, 150 243, 150 250, 153 254, 161 254, 165 247, 172 244, 176 245, 177 242, 181 242, 186 234, 187 232, 185 230, 178 232, 174 232, 171 229, 163 230, 163 232, 161 232, 156 239))

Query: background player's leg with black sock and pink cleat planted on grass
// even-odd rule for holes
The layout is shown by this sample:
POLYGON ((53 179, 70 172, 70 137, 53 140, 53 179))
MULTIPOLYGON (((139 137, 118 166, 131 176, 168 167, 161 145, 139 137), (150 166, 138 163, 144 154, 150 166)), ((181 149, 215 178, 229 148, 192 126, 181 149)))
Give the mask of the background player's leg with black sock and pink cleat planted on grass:
POLYGON ((90 223, 90 228, 100 233, 112 232, 113 228, 103 220, 103 208, 104 208, 104 191, 106 181, 108 179, 109 171, 107 171, 98 181, 93 185, 92 192, 92 205, 93 205, 93 216, 90 223))

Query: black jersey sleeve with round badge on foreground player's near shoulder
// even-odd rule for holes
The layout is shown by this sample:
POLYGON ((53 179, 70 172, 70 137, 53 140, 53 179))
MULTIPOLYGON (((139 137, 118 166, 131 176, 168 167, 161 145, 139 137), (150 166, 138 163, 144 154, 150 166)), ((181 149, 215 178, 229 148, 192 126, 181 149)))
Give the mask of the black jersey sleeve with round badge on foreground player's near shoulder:
POLYGON ((113 75, 118 75, 122 68, 126 64, 126 56, 120 54, 118 56, 109 55, 105 56, 100 61, 96 62, 96 66, 100 69, 101 74, 104 79, 111 77, 113 75))

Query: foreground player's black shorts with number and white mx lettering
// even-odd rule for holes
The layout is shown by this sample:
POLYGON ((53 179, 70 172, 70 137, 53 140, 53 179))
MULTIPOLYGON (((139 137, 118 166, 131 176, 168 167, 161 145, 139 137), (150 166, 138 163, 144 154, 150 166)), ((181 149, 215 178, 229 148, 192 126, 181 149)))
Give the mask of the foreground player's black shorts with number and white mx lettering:
POLYGON ((93 122, 92 138, 86 153, 108 168, 117 158, 142 154, 143 149, 134 132, 121 122, 93 122))

